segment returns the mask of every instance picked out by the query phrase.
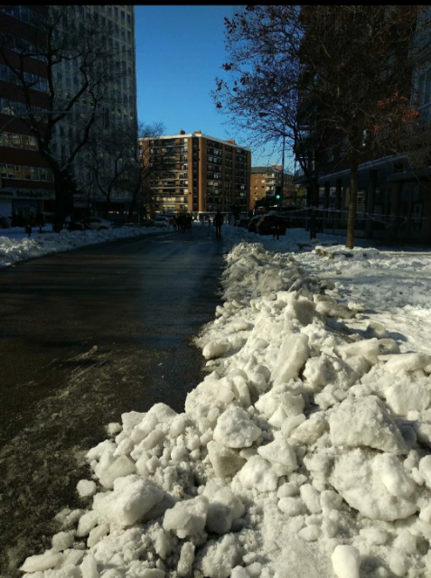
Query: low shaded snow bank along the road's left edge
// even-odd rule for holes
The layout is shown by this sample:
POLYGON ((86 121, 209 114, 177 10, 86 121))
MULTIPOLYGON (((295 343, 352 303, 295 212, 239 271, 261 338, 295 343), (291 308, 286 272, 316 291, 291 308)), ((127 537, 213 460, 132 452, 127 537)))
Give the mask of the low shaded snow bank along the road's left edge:
POLYGON ((0 268, 13 266, 18 261, 49 255, 50 253, 70 251, 84 245, 96 245, 118 238, 154 234, 160 232, 160 229, 155 227, 122 227, 101 231, 67 231, 63 229, 59 234, 35 234, 31 238, 20 238, 23 236, 16 235, 7 236, 8 231, 9 229, 0 230, 0 268), (5 236, 2 237, 2 233, 5 233, 5 236))

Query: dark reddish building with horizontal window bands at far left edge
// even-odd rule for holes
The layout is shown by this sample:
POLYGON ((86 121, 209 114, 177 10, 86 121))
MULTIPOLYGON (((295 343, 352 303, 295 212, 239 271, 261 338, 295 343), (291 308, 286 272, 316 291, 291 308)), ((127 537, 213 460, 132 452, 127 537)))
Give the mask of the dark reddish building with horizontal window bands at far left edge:
MULTIPOLYGON (((0 34, 7 42, 5 58, 19 65, 19 53, 32 49, 40 35, 45 7, 42 5, 0 6, 0 34)), ((39 38, 40 42, 40 38, 39 38)), ((47 107, 46 63, 41 58, 23 60, 24 72, 33 88, 33 112, 47 107)), ((30 130, 17 118, 25 111, 23 90, 0 54, 0 216, 15 214, 22 219, 52 210, 52 170, 38 153, 30 130)))

